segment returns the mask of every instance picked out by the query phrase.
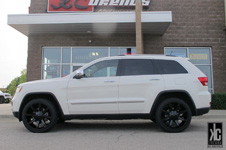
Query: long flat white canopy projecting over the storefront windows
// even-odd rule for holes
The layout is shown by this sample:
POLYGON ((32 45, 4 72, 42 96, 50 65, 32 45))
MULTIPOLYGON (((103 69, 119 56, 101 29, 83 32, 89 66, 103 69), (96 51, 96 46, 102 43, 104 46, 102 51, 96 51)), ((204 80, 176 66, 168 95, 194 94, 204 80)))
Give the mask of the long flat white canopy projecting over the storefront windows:
MULTIPOLYGON (((144 34, 164 34, 172 22, 171 11, 141 13, 144 34)), ((136 33, 135 12, 43 13, 8 15, 8 25, 33 34, 136 33)))

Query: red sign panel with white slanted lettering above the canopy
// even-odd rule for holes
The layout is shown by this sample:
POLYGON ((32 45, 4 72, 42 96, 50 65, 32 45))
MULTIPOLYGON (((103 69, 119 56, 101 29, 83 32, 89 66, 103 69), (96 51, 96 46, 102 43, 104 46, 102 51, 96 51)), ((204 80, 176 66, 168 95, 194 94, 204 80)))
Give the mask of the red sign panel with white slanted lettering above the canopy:
MULTIPOLYGON (((151 0, 142 0, 149 6, 151 0)), ((48 12, 92 12, 97 6, 135 7, 136 0, 49 0, 48 12)))

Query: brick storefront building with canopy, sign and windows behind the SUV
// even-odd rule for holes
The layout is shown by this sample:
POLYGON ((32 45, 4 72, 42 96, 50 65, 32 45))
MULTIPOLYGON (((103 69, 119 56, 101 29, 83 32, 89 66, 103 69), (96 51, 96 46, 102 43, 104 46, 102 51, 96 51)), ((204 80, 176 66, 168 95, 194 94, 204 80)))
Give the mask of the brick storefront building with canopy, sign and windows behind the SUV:
POLYGON ((224 0, 31 0, 8 24, 28 36, 28 81, 131 51, 190 58, 210 92, 226 91, 224 0))

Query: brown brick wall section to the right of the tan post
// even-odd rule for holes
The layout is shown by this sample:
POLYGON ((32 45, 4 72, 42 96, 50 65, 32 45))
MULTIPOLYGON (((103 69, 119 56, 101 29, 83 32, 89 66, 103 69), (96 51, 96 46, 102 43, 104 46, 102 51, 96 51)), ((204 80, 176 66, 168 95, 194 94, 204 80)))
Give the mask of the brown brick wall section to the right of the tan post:
POLYGON ((145 53, 163 54, 164 47, 211 47, 214 91, 226 92, 224 0, 152 0, 150 11, 172 11, 163 36, 144 33, 145 53))

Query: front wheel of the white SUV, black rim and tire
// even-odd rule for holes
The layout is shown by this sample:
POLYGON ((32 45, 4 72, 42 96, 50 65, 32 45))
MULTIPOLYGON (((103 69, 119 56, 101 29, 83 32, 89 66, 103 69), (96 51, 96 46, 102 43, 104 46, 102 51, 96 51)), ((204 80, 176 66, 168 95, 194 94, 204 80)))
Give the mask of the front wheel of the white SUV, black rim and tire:
POLYGON ((34 99, 25 105, 22 120, 31 132, 47 132, 57 123, 57 111, 47 99, 34 99))

